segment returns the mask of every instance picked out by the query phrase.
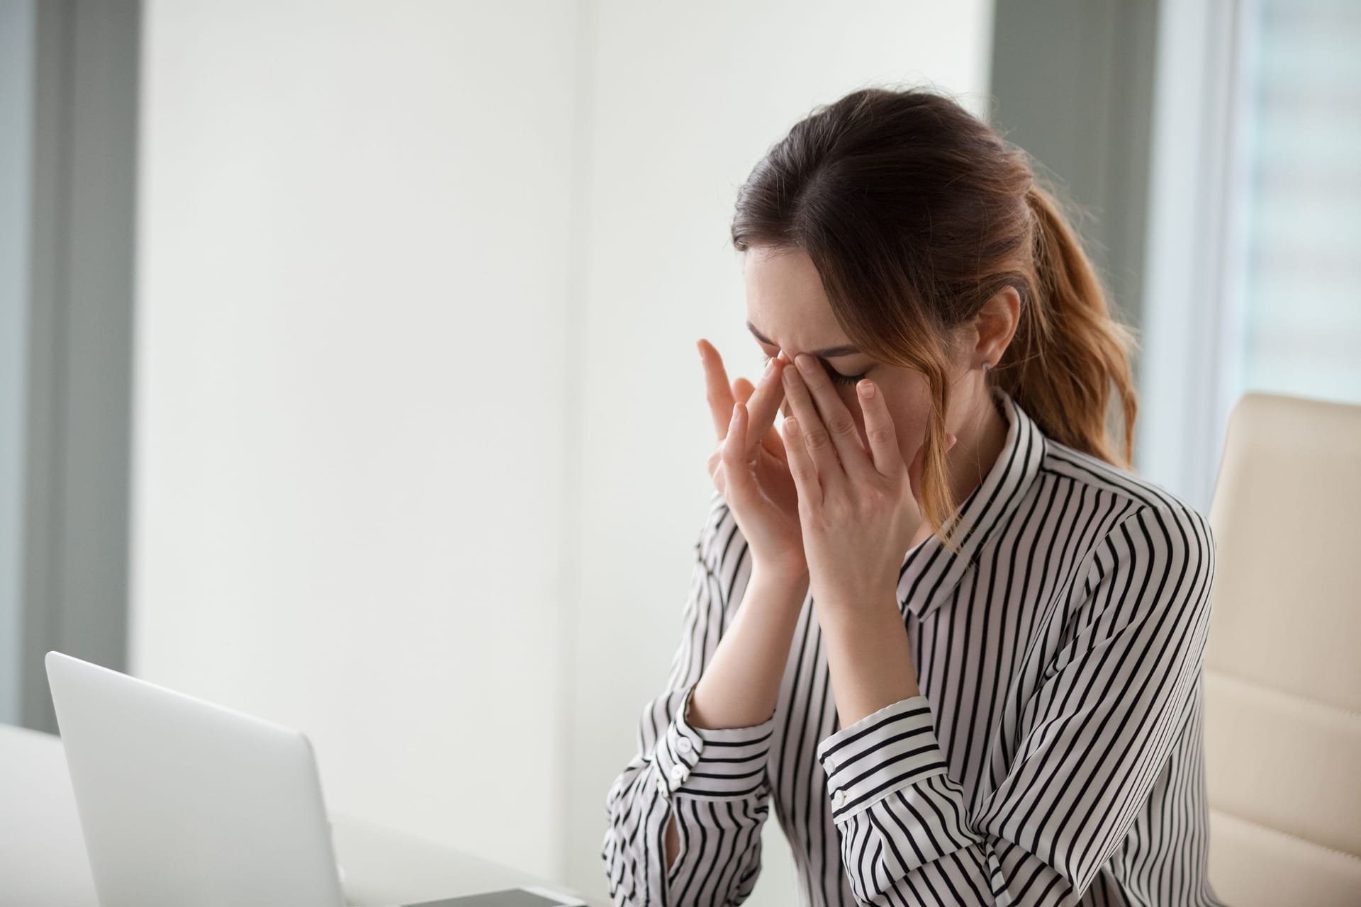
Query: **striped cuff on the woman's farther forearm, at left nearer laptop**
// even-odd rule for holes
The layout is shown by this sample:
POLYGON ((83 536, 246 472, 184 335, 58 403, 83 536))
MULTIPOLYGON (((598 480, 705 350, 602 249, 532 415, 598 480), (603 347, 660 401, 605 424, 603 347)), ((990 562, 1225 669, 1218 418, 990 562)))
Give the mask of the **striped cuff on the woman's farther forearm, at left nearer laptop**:
POLYGON ((765 785, 774 714, 749 728, 690 726, 695 684, 671 694, 675 718, 657 741, 657 790, 701 797, 750 797, 765 785))

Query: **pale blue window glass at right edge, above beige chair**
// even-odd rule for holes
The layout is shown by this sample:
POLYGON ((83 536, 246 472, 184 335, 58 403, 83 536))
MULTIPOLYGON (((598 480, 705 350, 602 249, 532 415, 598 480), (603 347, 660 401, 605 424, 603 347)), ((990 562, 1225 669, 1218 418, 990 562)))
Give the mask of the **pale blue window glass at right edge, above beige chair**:
POLYGON ((1248 4, 1240 392, 1361 401, 1361 4, 1248 4))

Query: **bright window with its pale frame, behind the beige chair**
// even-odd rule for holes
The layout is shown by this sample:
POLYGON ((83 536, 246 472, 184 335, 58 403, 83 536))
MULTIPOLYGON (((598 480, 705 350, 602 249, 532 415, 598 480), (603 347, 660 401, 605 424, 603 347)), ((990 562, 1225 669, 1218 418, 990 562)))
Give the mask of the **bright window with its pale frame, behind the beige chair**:
POLYGON ((1361 403, 1361 4, 1160 7, 1135 468, 1209 513, 1229 411, 1361 403))

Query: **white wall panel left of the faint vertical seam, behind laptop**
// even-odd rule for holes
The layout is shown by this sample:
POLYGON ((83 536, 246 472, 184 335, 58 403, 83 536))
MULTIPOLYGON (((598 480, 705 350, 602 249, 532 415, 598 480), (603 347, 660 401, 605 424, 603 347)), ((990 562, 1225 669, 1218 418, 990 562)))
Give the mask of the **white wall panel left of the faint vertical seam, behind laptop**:
POLYGON ((309 732, 335 808, 534 872, 561 808, 574 24, 146 10, 133 669, 309 732))

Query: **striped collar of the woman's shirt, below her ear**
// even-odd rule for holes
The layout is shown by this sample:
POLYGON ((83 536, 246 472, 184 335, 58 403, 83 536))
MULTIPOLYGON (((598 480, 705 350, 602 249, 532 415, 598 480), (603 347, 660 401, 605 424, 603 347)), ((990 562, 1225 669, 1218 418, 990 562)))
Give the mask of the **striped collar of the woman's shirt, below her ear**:
POLYGON ((938 608, 954 594, 964 574, 973 566, 994 532, 1006 525, 1040 472, 1044 460, 1044 432, 1040 426, 1000 388, 994 401, 1007 419, 1007 439, 1002 453, 977 488, 955 509, 946 526, 962 519, 958 553, 931 534, 911 548, 898 572, 898 602, 917 617, 938 608), (972 526, 972 529, 970 529, 972 526))

